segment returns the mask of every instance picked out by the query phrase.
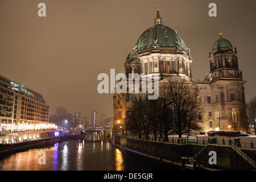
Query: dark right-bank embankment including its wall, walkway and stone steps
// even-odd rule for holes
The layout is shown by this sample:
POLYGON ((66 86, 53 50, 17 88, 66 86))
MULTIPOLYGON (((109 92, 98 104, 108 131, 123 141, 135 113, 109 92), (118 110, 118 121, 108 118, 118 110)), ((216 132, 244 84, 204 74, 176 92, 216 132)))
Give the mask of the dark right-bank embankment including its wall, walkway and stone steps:
POLYGON ((191 144, 187 141, 175 143, 159 142, 154 140, 125 137, 115 134, 112 143, 116 147, 137 152, 155 159, 162 159, 188 169, 217 170, 255 170, 256 149, 241 148, 234 142, 214 143, 214 140, 205 140, 200 144, 191 144), (213 142, 212 142, 213 141, 213 142), (217 164, 209 164, 209 152, 217 154, 217 164))

